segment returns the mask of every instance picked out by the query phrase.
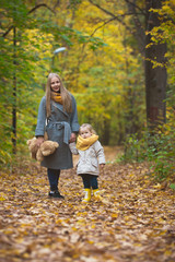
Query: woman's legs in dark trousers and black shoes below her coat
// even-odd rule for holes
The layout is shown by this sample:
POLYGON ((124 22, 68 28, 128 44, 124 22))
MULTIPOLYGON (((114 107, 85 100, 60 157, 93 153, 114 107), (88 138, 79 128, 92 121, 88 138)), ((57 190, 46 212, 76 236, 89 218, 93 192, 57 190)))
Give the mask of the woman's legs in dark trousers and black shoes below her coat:
POLYGON ((49 196, 63 198, 62 195, 60 195, 58 191, 58 181, 59 181, 60 170, 48 168, 47 176, 50 184, 49 196))

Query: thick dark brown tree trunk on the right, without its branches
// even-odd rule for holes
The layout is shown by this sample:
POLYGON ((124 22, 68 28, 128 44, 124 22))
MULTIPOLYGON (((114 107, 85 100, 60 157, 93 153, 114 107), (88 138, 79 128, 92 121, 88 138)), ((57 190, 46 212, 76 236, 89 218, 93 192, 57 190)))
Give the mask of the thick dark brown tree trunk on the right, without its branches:
MULTIPOLYGON (((145 25, 148 32, 154 26, 160 25, 158 13, 150 12, 150 8, 160 9, 161 0, 147 0, 145 25)), ((153 44, 150 34, 145 37, 145 100, 147 100, 147 120, 150 129, 153 131, 159 123, 165 122, 166 109, 166 68, 164 66, 153 67, 153 62, 164 64, 166 44, 153 44), (147 45, 150 45, 147 48, 147 45)))

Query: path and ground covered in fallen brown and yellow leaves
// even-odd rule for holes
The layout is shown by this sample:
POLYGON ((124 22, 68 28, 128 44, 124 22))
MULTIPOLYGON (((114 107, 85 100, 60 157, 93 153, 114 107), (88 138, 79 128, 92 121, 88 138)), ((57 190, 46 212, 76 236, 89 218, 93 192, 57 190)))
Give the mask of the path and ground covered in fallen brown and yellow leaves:
POLYGON ((21 166, 0 174, 1 262, 175 261, 174 192, 151 182, 145 164, 107 164, 103 201, 89 204, 75 169, 61 174, 62 201, 47 196, 45 168, 21 166))

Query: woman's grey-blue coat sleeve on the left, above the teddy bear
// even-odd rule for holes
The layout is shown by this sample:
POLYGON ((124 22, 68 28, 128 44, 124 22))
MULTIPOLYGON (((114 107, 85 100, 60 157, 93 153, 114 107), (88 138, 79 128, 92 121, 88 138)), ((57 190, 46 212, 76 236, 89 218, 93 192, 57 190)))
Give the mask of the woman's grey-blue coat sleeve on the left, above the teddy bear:
POLYGON ((44 96, 39 104, 35 136, 44 136, 46 129, 46 97, 44 96))

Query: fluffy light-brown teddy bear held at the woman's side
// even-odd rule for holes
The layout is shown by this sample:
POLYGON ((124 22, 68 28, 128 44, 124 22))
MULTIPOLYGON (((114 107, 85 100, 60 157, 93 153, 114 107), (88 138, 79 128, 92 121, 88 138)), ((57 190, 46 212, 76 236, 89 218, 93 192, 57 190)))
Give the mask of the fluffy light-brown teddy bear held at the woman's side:
POLYGON ((26 143, 28 145, 28 150, 31 151, 32 158, 38 162, 42 162, 44 159, 44 156, 52 154, 59 146, 57 142, 46 140, 38 148, 38 146, 36 145, 36 138, 28 140, 26 143))

